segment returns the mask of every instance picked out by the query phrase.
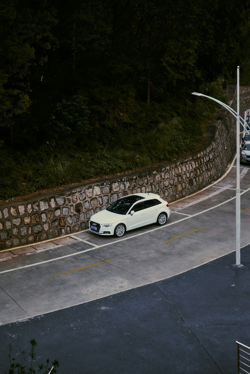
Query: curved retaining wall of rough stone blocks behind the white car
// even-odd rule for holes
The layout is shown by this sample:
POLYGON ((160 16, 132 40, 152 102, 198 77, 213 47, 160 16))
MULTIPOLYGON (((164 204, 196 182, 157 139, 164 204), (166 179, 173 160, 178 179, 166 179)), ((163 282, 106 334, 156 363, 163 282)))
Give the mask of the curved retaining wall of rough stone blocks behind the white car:
MULTIPOLYGON (((241 116, 250 106, 250 87, 240 89, 241 116)), ((236 95, 231 107, 237 110, 236 95)), ((216 181, 236 148, 236 120, 227 113, 210 145, 188 157, 118 178, 102 179, 51 191, 0 206, 0 250, 32 245, 88 227, 89 218, 122 196, 154 192, 168 202, 216 181)))

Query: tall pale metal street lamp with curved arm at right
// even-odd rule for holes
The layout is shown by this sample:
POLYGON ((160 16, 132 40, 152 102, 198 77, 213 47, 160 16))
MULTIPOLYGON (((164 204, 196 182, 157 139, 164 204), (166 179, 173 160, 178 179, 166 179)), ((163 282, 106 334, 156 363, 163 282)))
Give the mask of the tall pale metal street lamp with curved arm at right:
POLYGON ((249 126, 247 122, 240 116, 240 67, 237 66, 237 112, 226 105, 224 102, 219 101, 211 96, 203 95, 203 93, 192 92, 192 95, 204 96, 208 99, 216 101, 228 110, 236 119, 236 265, 240 266, 240 123, 244 130, 249 133, 249 126))

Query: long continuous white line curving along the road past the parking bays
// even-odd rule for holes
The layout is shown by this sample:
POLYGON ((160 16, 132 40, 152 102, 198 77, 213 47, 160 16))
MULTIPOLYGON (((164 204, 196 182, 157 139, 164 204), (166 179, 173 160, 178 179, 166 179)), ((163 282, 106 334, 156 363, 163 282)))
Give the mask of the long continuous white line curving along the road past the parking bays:
MULTIPOLYGON (((244 193, 250 191, 250 187, 241 192, 241 195, 243 195, 244 193)), ((180 220, 177 220, 177 221, 174 221, 174 222, 171 222, 171 223, 168 223, 164 226, 160 226, 160 227, 156 227, 155 229, 151 229, 151 230, 147 230, 143 233, 139 233, 139 234, 135 234, 135 235, 131 235, 131 236, 127 236, 127 237, 124 237, 122 239, 118 239, 118 240, 115 240, 113 242, 109 242, 109 243, 105 243, 105 244, 101 244, 101 245, 97 245, 95 246, 94 248, 88 248, 88 249, 84 249, 83 251, 79 251, 79 252, 74 252, 74 253, 71 253, 71 254, 68 254, 68 255, 65 255, 65 256, 61 256, 61 257, 56 257, 56 258, 52 258, 51 260, 46 260, 46 261, 41 261, 41 262, 37 262, 37 263, 34 263, 34 264, 30 264, 30 265, 25 265, 25 266, 20 266, 20 267, 16 267, 14 269, 9 269, 9 270, 4 270, 2 272, 0 272, 0 274, 3 274, 3 273, 8 273, 8 272, 13 272, 15 270, 21 270, 21 269, 26 269, 27 267, 33 267, 33 266, 37 266, 37 265, 42 265, 42 264, 46 264, 46 263, 49 263, 49 262, 52 262, 52 261, 57 261, 57 260, 62 260, 63 258, 67 258, 67 257, 71 257, 71 256, 76 256, 76 255, 79 255, 79 254, 82 254, 82 253, 85 253, 85 252, 89 252, 89 251, 93 251, 94 249, 98 249, 98 248, 103 248, 103 247, 106 247, 108 245, 112 245, 112 244, 115 244, 115 243, 120 243, 120 242, 123 242, 125 240, 129 240, 129 239, 132 239, 134 237, 138 237, 138 236, 141 236, 141 235, 144 235, 144 234, 148 234, 148 233, 151 233, 151 232, 154 232, 156 230, 160 230, 160 229, 163 229, 167 226, 172 226, 172 225, 175 225, 176 223, 179 223, 179 222, 182 222, 182 221, 185 221, 185 220, 188 220, 189 218, 193 218, 193 217, 196 217, 200 214, 203 214, 203 213, 206 213, 206 212, 209 212, 213 209, 216 209, 218 208, 219 206, 222 206, 232 200, 235 199, 235 196, 234 197, 231 197, 231 199, 228 199, 220 204, 217 204, 215 206, 212 206, 211 208, 208 208, 208 209, 205 209, 204 211, 201 211, 201 212, 198 212, 198 213, 195 213, 195 214, 192 214, 192 215, 189 215, 187 217, 184 217, 184 218, 181 218, 180 220)), ((91 244, 92 245, 92 244, 91 244)))

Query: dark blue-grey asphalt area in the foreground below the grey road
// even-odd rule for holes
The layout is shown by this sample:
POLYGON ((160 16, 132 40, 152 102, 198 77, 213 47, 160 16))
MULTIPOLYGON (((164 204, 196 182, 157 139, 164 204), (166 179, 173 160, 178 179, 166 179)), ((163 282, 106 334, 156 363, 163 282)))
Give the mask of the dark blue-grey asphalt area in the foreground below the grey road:
MULTIPOLYGON (((0 326, 20 360, 37 341, 37 364, 58 373, 237 373, 236 340, 250 346, 250 245, 180 275, 89 303, 0 326)), ((51 295, 56 298, 57 295, 51 295)))

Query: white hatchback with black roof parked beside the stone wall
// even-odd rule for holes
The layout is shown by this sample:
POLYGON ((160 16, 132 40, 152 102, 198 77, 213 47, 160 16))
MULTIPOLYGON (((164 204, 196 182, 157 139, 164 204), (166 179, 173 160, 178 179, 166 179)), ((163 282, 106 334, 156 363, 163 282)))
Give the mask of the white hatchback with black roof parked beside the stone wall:
POLYGON ((170 216, 167 201, 155 193, 136 193, 121 197, 89 220, 89 231, 121 237, 126 231, 157 223, 164 225, 170 216))

